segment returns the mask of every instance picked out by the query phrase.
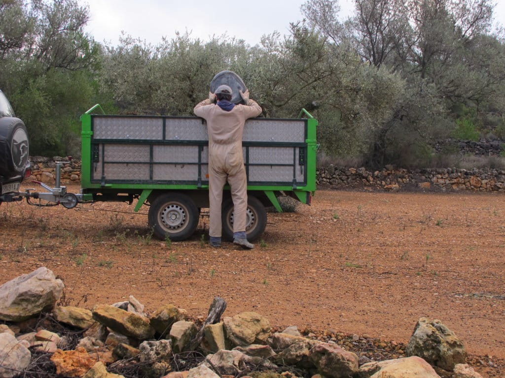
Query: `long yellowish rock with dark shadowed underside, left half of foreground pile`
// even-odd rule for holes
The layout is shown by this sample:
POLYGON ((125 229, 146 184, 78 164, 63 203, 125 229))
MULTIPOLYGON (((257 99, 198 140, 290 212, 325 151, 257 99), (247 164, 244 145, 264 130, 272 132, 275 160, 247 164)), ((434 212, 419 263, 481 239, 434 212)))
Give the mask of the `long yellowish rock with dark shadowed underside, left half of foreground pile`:
POLYGON ((150 339, 155 330, 150 326, 147 318, 133 312, 109 305, 96 305, 93 310, 93 319, 122 335, 138 340, 150 339))

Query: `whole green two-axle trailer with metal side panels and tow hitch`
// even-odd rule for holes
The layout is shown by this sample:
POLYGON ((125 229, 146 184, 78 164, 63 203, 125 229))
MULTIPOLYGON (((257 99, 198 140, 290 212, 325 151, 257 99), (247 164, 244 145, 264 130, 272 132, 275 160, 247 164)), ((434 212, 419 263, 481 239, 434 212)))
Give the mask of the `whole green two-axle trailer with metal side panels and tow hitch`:
MULTIPOLYGON (((149 207, 148 223, 161 239, 184 240, 209 207, 208 134, 198 117, 107 115, 97 104, 81 116, 81 193, 62 194, 75 202, 121 201, 134 211, 149 207)), ((296 119, 251 118, 245 123, 250 240, 266 227, 266 207, 282 212, 279 196, 310 204, 316 190, 317 120, 305 109, 296 119)), ((57 186, 58 183, 57 183, 57 186)), ((53 188, 53 192, 54 192, 53 188)), ((67 203, 65 203, 67 201, 67 203)), ((233 202, 223 194, 223 237, 233 235, 233 202)))

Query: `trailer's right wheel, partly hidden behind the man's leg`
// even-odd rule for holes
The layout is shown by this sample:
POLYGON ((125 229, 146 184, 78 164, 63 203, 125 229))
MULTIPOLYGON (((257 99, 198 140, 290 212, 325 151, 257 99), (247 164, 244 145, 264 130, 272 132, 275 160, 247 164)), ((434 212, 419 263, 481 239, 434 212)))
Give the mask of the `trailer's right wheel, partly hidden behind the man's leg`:
MULTIPOLYGON (((223 237, 233 240, 233 201, 226 200, 223 204, 221 218, 223 223, 223 237)), ((245 221, 245 233, 249 241, 258 239, 267 226, 267 212, 263 204, 256 197, 247 195, 247 220, 245 221)))

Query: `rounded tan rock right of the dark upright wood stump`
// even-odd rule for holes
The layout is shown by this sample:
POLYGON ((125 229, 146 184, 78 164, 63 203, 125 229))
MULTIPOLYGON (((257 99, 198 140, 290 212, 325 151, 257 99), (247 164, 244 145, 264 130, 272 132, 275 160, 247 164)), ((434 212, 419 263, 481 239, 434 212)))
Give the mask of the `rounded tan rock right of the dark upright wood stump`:
POLYGON ((241 312, 223 319, 226 336, 233 345, 266 344, 270 323, 257 312, 241 312))

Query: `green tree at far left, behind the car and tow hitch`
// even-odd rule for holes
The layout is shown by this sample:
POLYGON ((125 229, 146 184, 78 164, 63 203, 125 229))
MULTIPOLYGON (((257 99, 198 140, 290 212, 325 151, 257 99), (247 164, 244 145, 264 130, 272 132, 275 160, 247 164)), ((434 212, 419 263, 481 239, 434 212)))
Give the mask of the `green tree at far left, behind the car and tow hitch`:
POLYGON ((88 19, 75 0, 0 0, 0 87, 27 126, 32 155, 79 153, 78 117, 97 91, 88 19))

